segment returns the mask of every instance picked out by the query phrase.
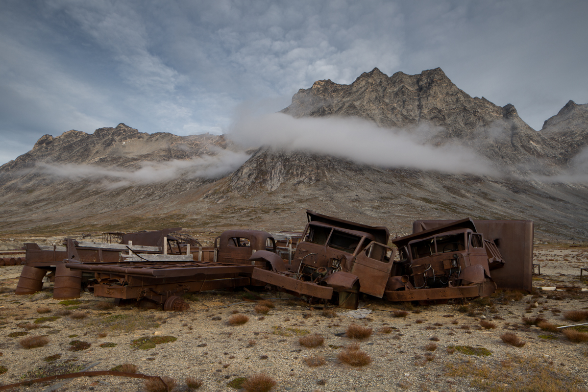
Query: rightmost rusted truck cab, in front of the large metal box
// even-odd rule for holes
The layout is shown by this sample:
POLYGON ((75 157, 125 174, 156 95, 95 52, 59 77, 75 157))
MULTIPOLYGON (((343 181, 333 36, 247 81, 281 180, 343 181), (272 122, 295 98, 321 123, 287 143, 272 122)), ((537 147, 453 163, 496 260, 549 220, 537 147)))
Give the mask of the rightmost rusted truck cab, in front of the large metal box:
POLYGON ((400 262, 386 287, 389 300, 446 300, 496 290, 490 270, 504 264, 502 257, 469 218, 392 243, 399 248, 400 262))

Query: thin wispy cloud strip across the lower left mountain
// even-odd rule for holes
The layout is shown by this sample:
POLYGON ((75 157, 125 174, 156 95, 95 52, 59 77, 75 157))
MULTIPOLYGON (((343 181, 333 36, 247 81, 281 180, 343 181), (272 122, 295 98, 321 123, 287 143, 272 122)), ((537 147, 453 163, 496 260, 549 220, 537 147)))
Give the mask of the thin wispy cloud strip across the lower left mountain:
POLYGON ((220 150, 216 155, 204 155, 189 160, 141 162, 138 169, 102 167, 68 163, 40 163, 37 170, 55 179, 102 180, 108 187, 149 185, 176 179, 215 179, 234 172, 249 159, 244 152, 220 150))

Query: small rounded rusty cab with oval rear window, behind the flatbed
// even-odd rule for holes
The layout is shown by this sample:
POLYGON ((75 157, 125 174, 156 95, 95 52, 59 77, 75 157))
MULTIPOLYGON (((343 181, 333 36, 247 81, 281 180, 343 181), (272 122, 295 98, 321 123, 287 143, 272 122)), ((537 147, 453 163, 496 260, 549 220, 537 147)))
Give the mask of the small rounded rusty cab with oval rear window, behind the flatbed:
POLYGON ((249 260, 258 250, 276 253, 272 234, 260 230, 226 230, 215 238, 215 261, 219 263, 265 267, 265 262, 249 260))

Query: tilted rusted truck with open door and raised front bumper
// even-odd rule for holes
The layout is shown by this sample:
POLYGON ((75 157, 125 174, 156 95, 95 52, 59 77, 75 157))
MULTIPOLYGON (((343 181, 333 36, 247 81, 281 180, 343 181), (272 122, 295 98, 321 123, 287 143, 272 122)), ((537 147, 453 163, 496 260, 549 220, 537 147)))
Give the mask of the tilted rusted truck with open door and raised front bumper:
POLYGON ((271 270, 255 269, 252 278, 278 290, 333 300, 356 309, 359 293, 382 297, 394 266, 396 249, 387 246, 386 227, 362 225, 306 211, 308 223, 296 246, 292 264, 268 252, 250 260, 269 262, 271 270))

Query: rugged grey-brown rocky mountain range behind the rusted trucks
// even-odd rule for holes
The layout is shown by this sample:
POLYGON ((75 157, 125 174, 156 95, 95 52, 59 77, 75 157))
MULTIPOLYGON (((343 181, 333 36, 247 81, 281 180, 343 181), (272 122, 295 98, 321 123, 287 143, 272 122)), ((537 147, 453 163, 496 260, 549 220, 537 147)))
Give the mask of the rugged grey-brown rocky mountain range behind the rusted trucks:
POLYGON ((245 151, 226 136, 148 135, 124 124, 45 135, 0 167, 0 233, 301 230, 310 208, 398 234, 415 219, 471 216, 532 219, 537 237, 586 240, 588 187, 557 177, 582 156, 586 110, 570 101, 536 132, 512 105, 472 98, 439 68, 390 77, 376 68, 350 85, 318 81, 282 110, 295 118, 358 117, 435 148, 472 149, 499 169, 492 176, 270 145, 245 151))

